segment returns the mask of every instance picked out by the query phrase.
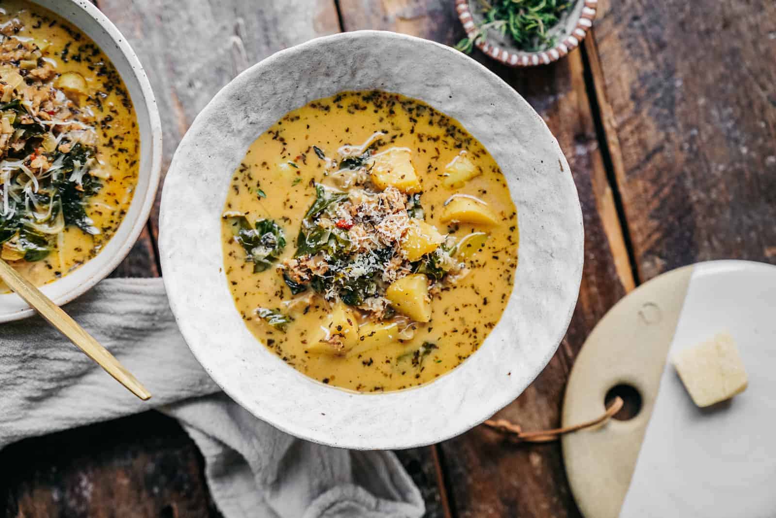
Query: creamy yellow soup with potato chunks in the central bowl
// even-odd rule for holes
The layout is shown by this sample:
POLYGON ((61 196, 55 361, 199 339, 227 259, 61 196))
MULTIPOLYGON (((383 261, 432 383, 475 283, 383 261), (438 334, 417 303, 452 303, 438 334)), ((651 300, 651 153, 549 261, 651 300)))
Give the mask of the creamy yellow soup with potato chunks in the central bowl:
POLYGON ((223 210, 229 288, 248 329, 324 384, 393 391, 476 352, 517 266, 494 158, 417 99, 343 92, 251 144, 223 210))

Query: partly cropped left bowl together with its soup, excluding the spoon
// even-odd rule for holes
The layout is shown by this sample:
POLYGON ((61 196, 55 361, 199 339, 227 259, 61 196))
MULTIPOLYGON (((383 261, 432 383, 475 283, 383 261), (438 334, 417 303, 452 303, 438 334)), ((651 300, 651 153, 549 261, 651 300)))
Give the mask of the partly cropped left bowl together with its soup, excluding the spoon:
MULTIPOLYGON (((161 168, 151 86, 89 2, 0 6, 0 257, 64 304, 143 230, 161 168)), ((33 310, 0 281, 0 322, 33 310)))

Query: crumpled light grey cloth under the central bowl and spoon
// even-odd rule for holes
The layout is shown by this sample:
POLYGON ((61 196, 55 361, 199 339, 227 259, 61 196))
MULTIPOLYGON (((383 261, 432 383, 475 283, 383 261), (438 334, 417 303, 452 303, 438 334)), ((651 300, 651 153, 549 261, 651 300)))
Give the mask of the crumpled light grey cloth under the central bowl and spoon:
POLYGON ((42 319, 0 325, 0 448, 29 436, 158 408, 202 451, 226 518, 421 516, 387 451, 296 439, 220 392, 178 332, 161 279, 109 279, 66 307, 153 393, 140 402, 42 319))

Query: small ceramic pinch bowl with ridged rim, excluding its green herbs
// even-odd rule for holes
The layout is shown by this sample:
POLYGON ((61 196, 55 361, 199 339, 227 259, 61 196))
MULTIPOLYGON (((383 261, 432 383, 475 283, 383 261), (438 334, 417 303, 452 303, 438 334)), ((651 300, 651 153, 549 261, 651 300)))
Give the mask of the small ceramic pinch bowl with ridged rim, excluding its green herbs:
MULTIPOLYGON (((598 10, 598 0, 573 0, 572 3, 573 7, 549 30, 556 43, 547 50, 520 50, 515 47, 511 37, 504 36, 497 30, 488 31, 487 38, 476 43, 476 47, 487 56, 510 67, 532 67, 558 61, 582 43, 587 30, 593 26, 593 19, 598 10)), ((466 35, 473 37, 476 27, 483 21, 482 3, 480 0, 456 0, 456 11, 466 35)))

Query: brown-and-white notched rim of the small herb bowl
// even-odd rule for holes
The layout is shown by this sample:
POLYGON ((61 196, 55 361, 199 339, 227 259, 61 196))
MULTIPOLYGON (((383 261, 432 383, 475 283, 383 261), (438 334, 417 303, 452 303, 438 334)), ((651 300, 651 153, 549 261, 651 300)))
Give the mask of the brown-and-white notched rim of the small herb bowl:
MULTIPOLYGON (((550 64, 558 61, 561 57, 568 54, 571 50, 578 47, 587 31, 593 26, 596 11, 598 10, 598 0, 584 0, 584 6, 580 12, 580 18, 577 20, 577 26, 571 30, 571 33, 563 41, 556 43, 555 47, 539 52, 521 52, 515 51, 491 43, 487 38, 484 41, 475 43, 476 47, 482 50, 487 56, 494 58, 509 67, 533 67, 538 64, 550 64)), ((468 0, 456 0, 456 11, 458 18, 463 24, 463 30, 466 30, 466 36, 473 37, 476 30, 474 18, 469 8, 468 0)))

